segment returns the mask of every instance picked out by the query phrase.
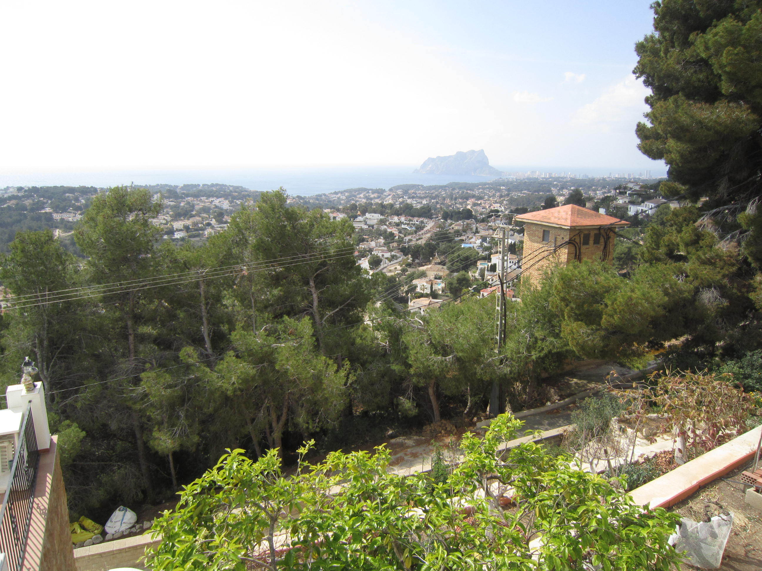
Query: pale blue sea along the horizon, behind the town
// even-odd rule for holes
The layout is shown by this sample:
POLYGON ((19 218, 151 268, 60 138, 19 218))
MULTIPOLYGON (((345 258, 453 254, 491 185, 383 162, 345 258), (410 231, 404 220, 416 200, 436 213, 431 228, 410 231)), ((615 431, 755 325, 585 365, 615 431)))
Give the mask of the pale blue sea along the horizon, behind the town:
MULTIPOLYGON (((332 167, 268 167, 227 168, 204 170, 123 170, 123 171, 62 171, 3 174, 0 172, 0 189, 3 187, 42 186, 88 186, 114 187, 123 184, 203 184, 223 183, 251 190, 274 190, 283 187, 293 196, 312 196, 349 188, 388 189, 398 184, 446 184, 451 182, 477 183, 495 177, 477 177, 452 174, 415 174, 418 165, 374 165, 332 167)), ((498 170, 572 172, 577 176, 607 176, 610 172, 639 172, 636 168, 584 169, 580 167, 507 167, 498 170)), ((654 172, 655 176, 659 174, 654 172)))

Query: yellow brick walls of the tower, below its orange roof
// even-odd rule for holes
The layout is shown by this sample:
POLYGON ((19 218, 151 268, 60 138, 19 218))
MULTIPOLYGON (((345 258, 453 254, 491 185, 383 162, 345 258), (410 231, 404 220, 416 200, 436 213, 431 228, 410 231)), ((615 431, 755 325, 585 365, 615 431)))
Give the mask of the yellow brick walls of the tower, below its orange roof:
MULTIPOLYGON (((537 222, 526 222, 524 225, 523 259, 521 263, 523 281, 526 283, 526 278, 528 278, 530 282, 537 284, 543 278, 546 271, 552 270, 555 266, 565 266, 575 260, 576 250, 571 244, 560 247, 555 254, 548 255, 552 251, 554 244, 562 244, 562 242, 570 239, 580 244, 582 260, 600 260, 604 250, 604 237, 601 236, 600 244, 593 244, 596 232, 597 229, 594 228, 558 228, 537 222), (543 242, 543 230, 550 231, 550 240, 548 242, 543 242), (581 246, 581 234, 586 232, 590 232, 590 244, 581 246)), ((607 262, 611 263, 614 247, 614 231, 608 230, 608 234, 610 242, 607 262)))

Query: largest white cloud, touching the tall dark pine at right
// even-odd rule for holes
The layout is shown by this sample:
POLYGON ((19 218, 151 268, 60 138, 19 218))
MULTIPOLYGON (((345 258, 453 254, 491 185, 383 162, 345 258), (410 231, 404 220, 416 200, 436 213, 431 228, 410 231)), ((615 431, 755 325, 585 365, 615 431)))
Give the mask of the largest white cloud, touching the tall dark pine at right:
POLYGON ((644 97, 650 91, 635 75, 610 86, 592 103, 580 107, 571 118, 571 124, 609 132, 616 127, 634 128, 648 110, 644 97))

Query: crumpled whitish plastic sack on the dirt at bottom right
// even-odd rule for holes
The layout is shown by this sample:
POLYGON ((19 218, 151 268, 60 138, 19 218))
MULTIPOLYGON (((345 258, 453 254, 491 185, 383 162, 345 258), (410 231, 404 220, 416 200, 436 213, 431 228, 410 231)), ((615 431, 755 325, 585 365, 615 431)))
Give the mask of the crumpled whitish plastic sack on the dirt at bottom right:
POLYGON ((686 552, 686 563, 701 569, 718 569, 730 537, 733 514, 716 515, 709 522, 682 518, 677 529, 675 550, 686 552))

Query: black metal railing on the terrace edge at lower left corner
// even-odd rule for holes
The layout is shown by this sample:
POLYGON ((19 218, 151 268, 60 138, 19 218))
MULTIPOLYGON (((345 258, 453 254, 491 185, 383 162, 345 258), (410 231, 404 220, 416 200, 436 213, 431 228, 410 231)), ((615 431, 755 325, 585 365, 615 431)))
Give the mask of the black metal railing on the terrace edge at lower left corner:
POLYGON ((8 484, 0 506, 0 553, 5 553, 8 571, 21 571, 24 563, 39 464, 40 451, 37 450, 37 435, 29 404, 21 419, 18 445, 14 450, 8 484))

